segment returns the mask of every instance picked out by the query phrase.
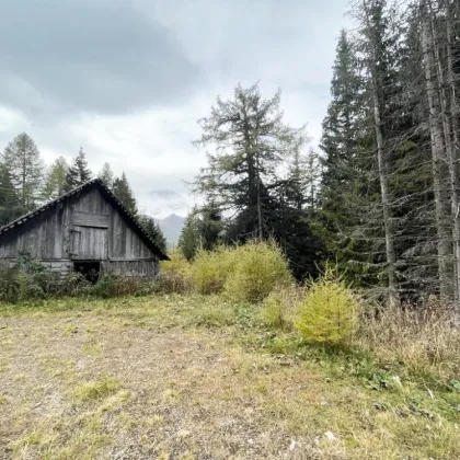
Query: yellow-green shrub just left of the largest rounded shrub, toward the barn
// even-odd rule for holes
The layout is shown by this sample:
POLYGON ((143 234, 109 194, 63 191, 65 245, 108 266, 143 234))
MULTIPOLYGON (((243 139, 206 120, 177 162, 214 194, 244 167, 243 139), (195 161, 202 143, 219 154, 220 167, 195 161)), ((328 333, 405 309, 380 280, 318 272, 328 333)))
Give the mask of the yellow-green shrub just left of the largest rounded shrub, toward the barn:
POLYGON ((222 291, 229 274, 234 269, 234 250, 217 248, 214 251, 198 251, 191 266, 194 288, 199 294, 222 291))

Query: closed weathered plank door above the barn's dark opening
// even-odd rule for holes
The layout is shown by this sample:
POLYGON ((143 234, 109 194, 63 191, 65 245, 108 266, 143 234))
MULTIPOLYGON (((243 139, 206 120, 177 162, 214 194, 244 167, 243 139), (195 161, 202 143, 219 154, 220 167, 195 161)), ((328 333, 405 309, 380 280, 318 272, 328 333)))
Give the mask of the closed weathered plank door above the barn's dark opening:
POLYGON ((108 258, 108 216, 74 212, 71 229, 71 258, 104 261, 108 258))

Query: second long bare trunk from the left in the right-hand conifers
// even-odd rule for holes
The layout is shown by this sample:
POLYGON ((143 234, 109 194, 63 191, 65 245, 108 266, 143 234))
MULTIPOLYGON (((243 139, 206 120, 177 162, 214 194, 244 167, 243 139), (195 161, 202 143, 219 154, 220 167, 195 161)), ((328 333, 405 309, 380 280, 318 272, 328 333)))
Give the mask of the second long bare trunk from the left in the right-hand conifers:
POLYGON ((432 166, 433 186, 435 194, 435 212, 437 228, 437 249, 438 249, 438 274, 439 274, 439 295, 441 298, 451 297, 450 280, 450 258, 451 245, 449 237, 448 217, 446 212, 446 198, 442 188, 442 164, 446 162, 445 146, 442 140, 442 127, 440 124, 440 110, 438 92, 433 76, 434 70, 434 44, 430 39, 429 22, 424 19, 422 23, 422 50, 424 57, 424 70, 426 80, 426 93, 429 108, 429 133, 432 138, 432 166))

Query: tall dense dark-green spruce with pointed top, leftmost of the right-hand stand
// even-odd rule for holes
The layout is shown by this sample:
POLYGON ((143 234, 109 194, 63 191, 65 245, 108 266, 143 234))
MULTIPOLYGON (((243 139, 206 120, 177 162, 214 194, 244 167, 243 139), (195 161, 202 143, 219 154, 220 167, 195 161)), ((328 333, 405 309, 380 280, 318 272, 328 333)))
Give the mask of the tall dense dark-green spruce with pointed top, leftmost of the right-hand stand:
POLYGON ((323 174, 315 231, 338 268, 361 285, 376 283, 370 268, 372 243, 361 231, 376 193, 368 181, 373 163, 366 152, 371 140, 366 128, 365 88, 354 44, 342 31, 331 81, 332 101, 323 120, 323 174))

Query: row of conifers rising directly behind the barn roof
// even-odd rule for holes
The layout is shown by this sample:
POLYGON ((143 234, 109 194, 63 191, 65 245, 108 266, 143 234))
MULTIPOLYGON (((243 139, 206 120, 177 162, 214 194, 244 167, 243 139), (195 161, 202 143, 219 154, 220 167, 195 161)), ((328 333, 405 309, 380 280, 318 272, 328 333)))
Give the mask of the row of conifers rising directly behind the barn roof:
MULTIPOLYGON (((70 164, 59 157, 46 165, 35 141, 25 133, 18 135, 0 153, 0 227, 93 177, 82 148, 70 164)), ((123 172, 116 177, 111 165, 104 163, 97 177, 165 252, 166 240, 158 222, 150 216, 139 214, 126 174, 123 172)))

